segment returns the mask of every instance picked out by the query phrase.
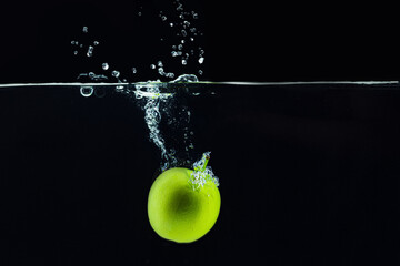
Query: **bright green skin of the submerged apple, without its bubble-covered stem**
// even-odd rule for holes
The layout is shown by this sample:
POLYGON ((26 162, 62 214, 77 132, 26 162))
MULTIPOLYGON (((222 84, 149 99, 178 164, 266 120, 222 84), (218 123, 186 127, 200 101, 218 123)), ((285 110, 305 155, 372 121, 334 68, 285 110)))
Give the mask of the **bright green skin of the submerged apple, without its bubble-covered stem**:
POLYGON ((193 190, 192 170, 170 168, 152 184, 148 215, 156 233, 177 243, 191 243, 206 235, 217 222, 221 196, 212 181, 193 190))

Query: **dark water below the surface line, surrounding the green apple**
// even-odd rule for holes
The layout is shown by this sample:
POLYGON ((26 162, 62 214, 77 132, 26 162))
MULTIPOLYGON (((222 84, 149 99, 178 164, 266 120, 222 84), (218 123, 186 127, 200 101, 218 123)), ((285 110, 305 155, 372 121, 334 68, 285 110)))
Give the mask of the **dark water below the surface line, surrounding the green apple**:
POLYGON ((222 201, 188 245, 148 222, 160 151, 137 100, 79 89, 0 89, 1 265, 399 263, 399 84, 176 89, 222 201))

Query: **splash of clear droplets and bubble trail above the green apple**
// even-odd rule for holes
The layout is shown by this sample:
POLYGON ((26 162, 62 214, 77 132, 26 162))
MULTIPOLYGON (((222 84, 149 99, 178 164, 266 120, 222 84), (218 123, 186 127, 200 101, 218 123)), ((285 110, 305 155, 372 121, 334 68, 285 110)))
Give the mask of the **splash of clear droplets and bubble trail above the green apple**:
MULTIPOLYGON (((166 54, 171 59, 168 63, 176 62, 181 64, 183 68, 194 64, 200 68, 204 62, 204 50, 200 45, 197 45, 200 37, 203 35, 203 33, 196 27, 196 21, 199 19, 199 14, 196 11, 187 10, 180 0, 172 1, 172 4, 176 7, 176 12, 168 14, 164 14, 163 11, 159 12, 161 23, 164 24, 167 27, 167 31, 170 31, 171 33, 169 34, 171 40, 164 40, 163 37, 160 39, 163 43, 169 43, 168 45, 171 48, 170 53, 166 54)), ((138 17, 148 16, 146 12, 142 12, 142 10, 140 10, 137 14, 138 17)), ((87 60, 92 60, 96 55, 96 47, 99 45, 99 41, 88 33, 88 27, 83 27, 82 32, 86 35, 86 40, 89 40, 89 42, 76 40, 71 41, 73 54, 83 54, 87 60)), ((132 89, 129 84, 127 84, 127 79, 123 79, 121 73, 137 74, 138 72, 146 72, 150 70, 154 71, 156 74, 162 79, 169 79, 169 83, 199 82, 199 79, 194 74, 182 74, 176 78, 177 74, 173 71, 170 71, 168 63, 162 60, 156 60, 150 65, 142 65, 141 68, 146 68, 144 70, 140 69, 139 65, 130 66, 129 71, 121 71, 116 70, 116 68, 110 65, 108 62, 102 61, 101 65, 99 65, 100 70, 103 71, 102 74, 89 72, 81 73, 78 76, 78 79, 89 79, 90 81, 96 82, 117 80, 118 85, 116 85, 116 92, 131 95, 137 100, 138 105, 142 108, 144 112, 144 122, 149 130, 149 139, 161 152, 162 171, 169 167, 178 166, 178 164, 182 162, 179 161, 181 158, 178 160, 180 155, 177 155, 177 151, 173 147, 167 147, 166 140, 169 141, 169 137, 168 135, 167 137, 162 135, 160 123, 162 119, 166 119, 167 114, 167 121, 164 122, 167 122, 168 126, 173 127, 179 124, 181 127, 179 131, 182 131, 183 141, 180 140, 177 144, 180 146, 184 145, 182 151, 186 151, 186 156, 188 158, 188 154, 194 149, 194 145, 191 142, 193 132, 189 129, 191 113, 187 106, 179 106, 179 111, 174 110, 177 111, 174 114, 177 117, 171 117, 171 101, 173 101, 174 94, 162 93, 160 91, 160 80, 138 82, 133 84, 132 89)), ((203 74, 203 71, 198 69, 197 74, 201 75, 203 74)), ((104 95, 104 91, 98 92, 97 90, 93 90, 93 88, 89 89, 89 86, 82 86, 80 92, 86 98, 92 94, 96 96, 104 95)), ((177 109, 177 106, 172 108, 177 109)), ((190 161, 187 160, 184 163, 189 164, 190 161)))

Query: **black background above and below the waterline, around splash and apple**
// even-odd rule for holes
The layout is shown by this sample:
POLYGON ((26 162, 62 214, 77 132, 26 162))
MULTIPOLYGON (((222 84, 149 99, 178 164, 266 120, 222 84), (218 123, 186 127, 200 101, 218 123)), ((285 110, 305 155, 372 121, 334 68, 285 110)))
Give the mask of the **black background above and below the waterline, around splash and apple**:
MULTIPOLYGON (((394 7, 186 7, 198 11, 204 32, 203 80, 399 78, 394 7)), ((102 73, 103 62, 128 81, 157 79, 149 65, 170 52, 158 17, 168 8, 167 1, 4 4, 0 82, 74 82, 82 72, 102 73), (88 59, 73 55, 71 40, 100 44, 88 59), (132 66, 142 71, 132 75, 132 66)), ((160 160, 136 104, 110 92, 3 90, 0 264, 396 265, 400 94, 374 89, 228 86, 179 103, 192 112, 196 152, 212 151, 221 180, 220 217, 190 245, 161 239, 148 223, 160 160)))

